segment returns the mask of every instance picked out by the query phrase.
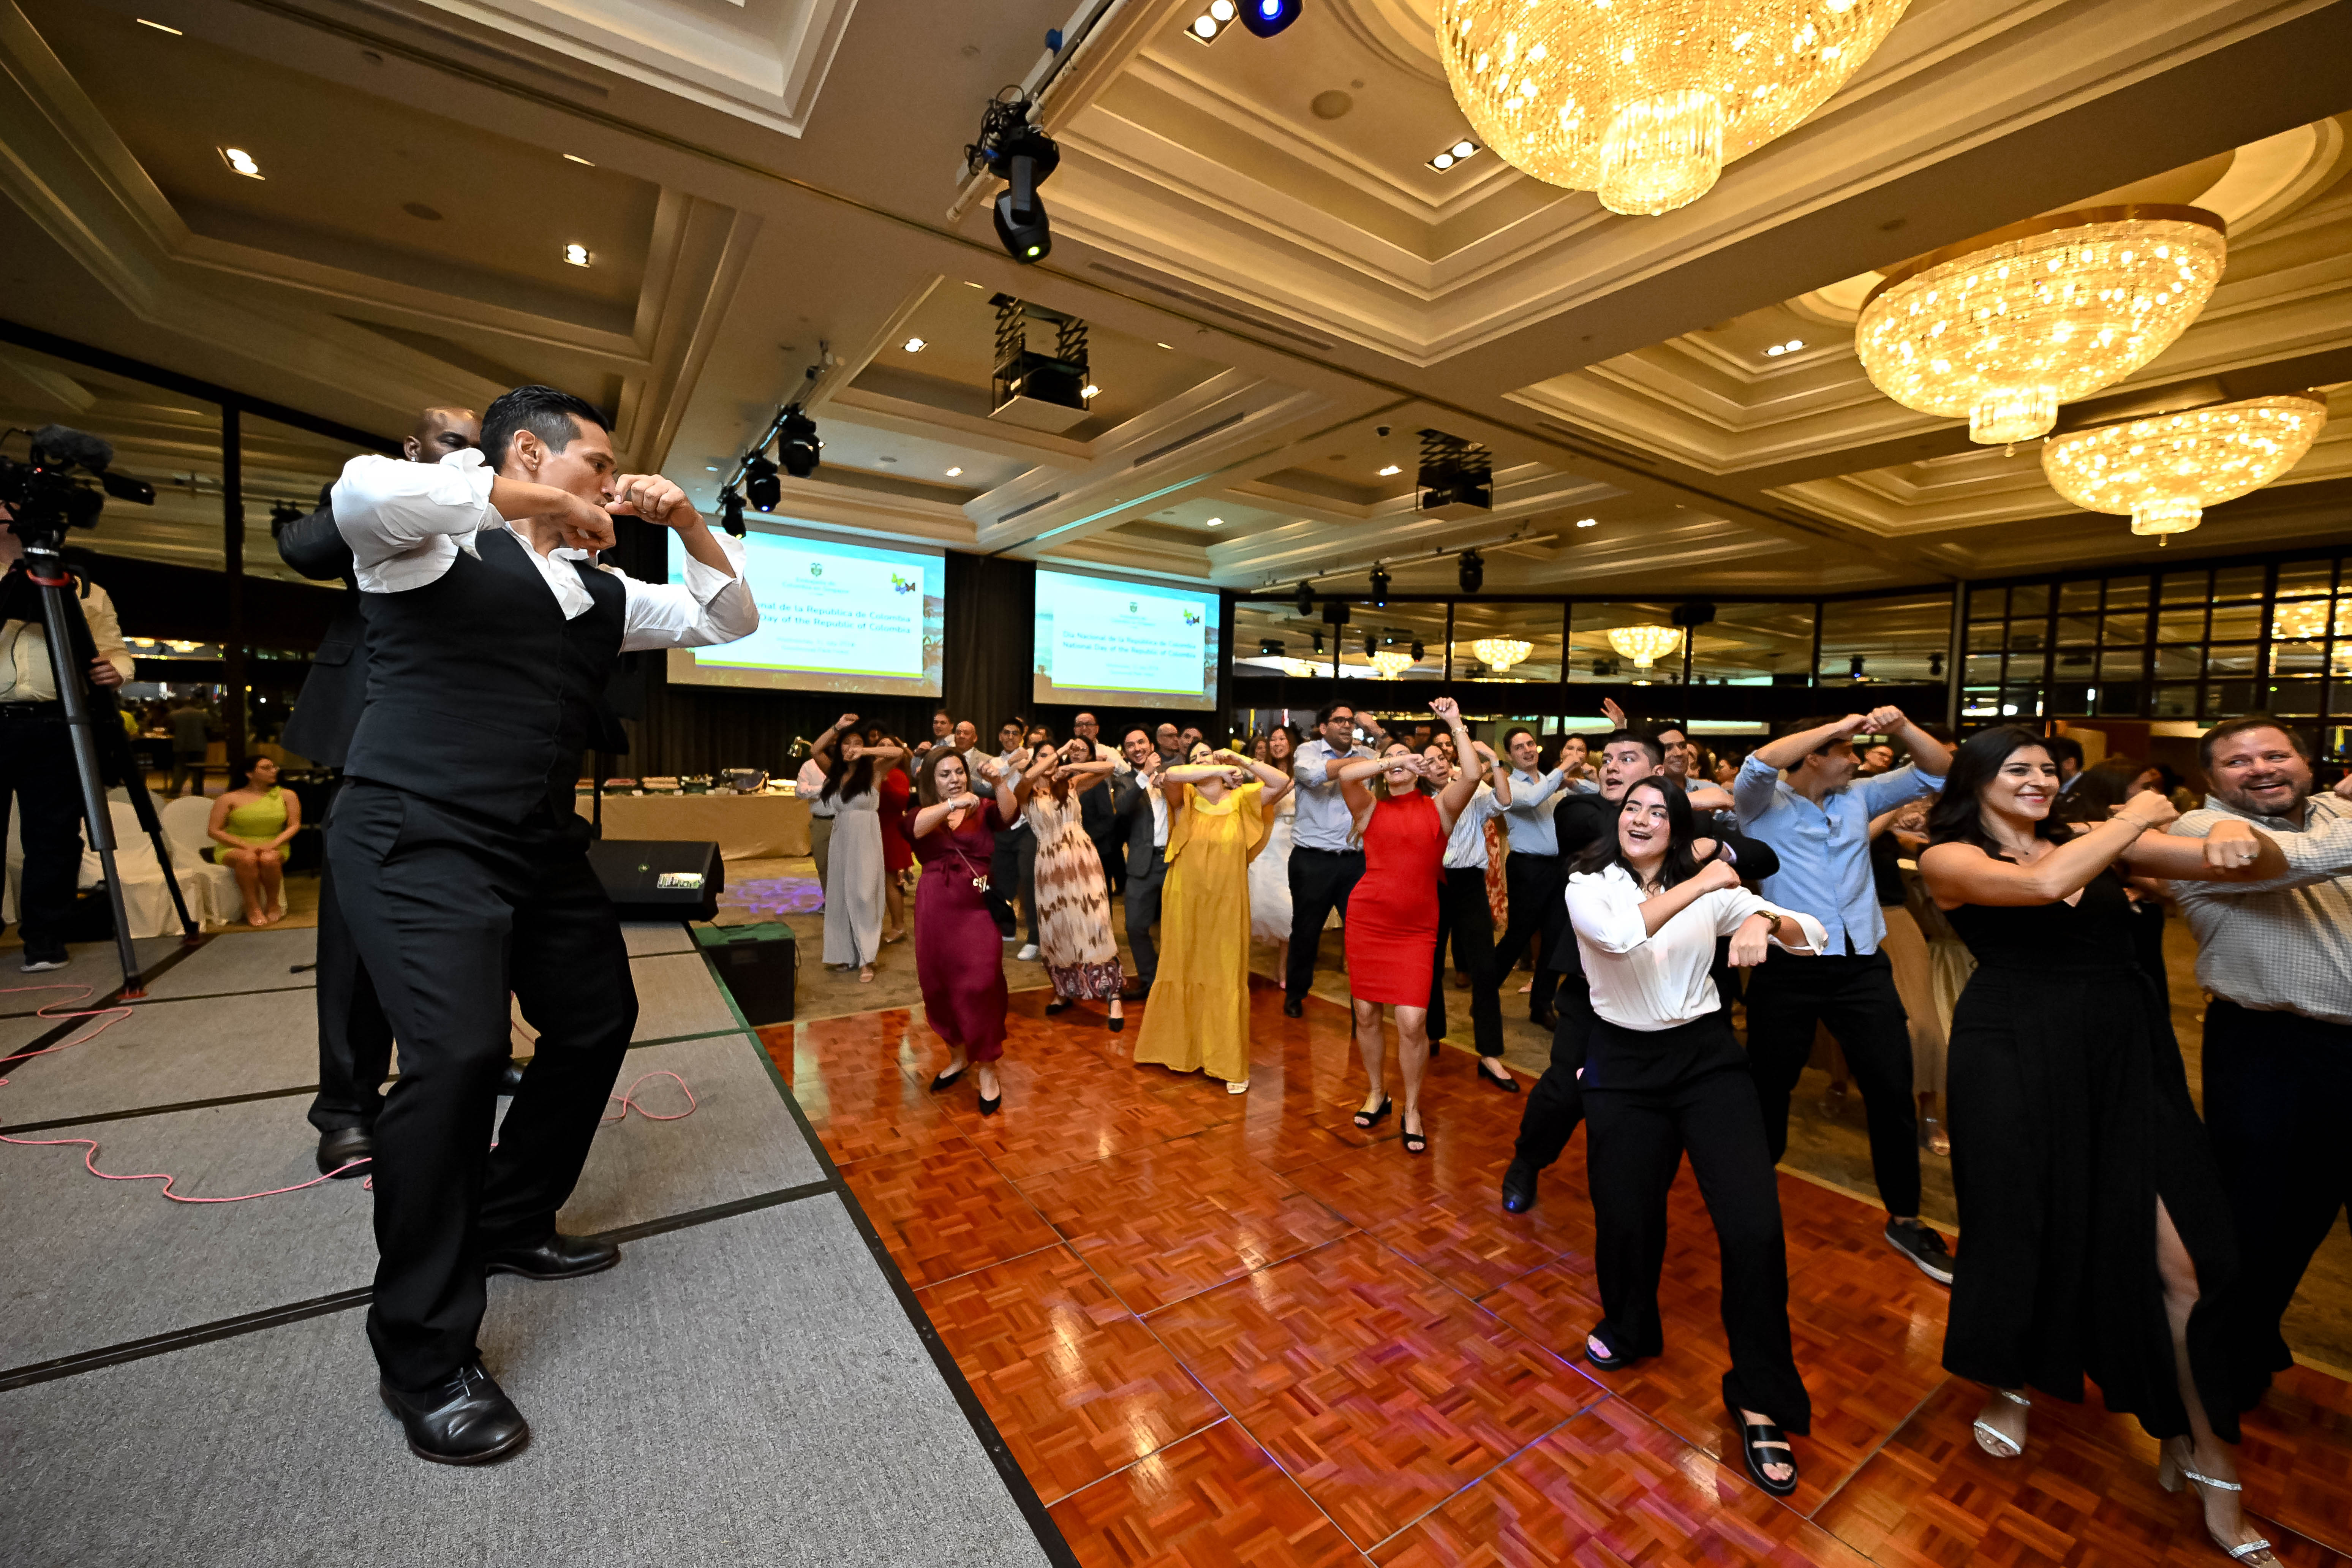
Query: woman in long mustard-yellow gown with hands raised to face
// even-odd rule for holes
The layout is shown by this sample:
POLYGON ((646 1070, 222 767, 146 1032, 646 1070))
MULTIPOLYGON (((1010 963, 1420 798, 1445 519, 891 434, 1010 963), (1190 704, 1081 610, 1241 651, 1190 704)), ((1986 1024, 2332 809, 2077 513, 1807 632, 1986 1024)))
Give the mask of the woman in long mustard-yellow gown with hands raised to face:
POLYGON ((1160 893, 1160 976, 1143 1009, 1138 1063, 1249 1088, 1249 863, 1289 792, 1287 773, 1209 752, 1160 773, 1169 875, 1160 893))

